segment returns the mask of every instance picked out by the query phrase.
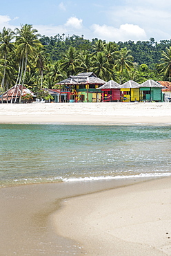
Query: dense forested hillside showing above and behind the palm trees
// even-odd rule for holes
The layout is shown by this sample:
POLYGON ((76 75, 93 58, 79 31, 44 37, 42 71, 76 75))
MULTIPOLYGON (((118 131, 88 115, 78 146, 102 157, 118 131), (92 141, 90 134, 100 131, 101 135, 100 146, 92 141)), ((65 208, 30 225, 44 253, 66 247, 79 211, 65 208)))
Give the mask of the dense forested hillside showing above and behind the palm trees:
MULTIPOLYGON (((45 46, 52 60, 61 60, 63 53, 65 53, 70 46, 73 46, 77 50, 86 50, 88 53, 93 53, 94 49, 92 46, 94 46, 94 44, 99 40, 96 38, 90 41, 77 35, 66 37, 64 34, 58 34, 54 37, 43 36, 40 41, 45 46)), ((134 62, 137 62, 137 64, 146 64, 149 68, 154 68, 156 64, 161 62, 161 53, 165 51, 166 47, 169 48, 171 46, 171 40, 155 42, 154 38, 150 38, 149 41, 113 42, 113 44, 115 44, 119 49, 124 47, 129 49, 132 57, 134 57, 134 62)))

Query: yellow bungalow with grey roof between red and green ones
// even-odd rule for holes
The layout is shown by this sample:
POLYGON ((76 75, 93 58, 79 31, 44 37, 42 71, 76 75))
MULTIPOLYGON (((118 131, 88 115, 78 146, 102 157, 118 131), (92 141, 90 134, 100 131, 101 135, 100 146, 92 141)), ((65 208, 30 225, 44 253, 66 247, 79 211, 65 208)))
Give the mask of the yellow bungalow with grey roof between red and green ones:
POLYGON ((122 102, 139 101, 139 84, 137 82, 130 80, 122 84, 120 88, 122 102))

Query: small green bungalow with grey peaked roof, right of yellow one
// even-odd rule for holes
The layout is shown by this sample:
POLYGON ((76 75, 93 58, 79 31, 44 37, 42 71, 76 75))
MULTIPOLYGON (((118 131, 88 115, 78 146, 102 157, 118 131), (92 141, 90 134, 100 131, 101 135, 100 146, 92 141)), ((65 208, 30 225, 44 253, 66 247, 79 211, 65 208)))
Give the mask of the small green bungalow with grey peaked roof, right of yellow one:
POLYGON ((151 102, 154 100, 157 102, 163 102, 161 89, 165 89, 165 87, 154 80, 147 80, 143 82, 139 85, 140 101, 151 102))

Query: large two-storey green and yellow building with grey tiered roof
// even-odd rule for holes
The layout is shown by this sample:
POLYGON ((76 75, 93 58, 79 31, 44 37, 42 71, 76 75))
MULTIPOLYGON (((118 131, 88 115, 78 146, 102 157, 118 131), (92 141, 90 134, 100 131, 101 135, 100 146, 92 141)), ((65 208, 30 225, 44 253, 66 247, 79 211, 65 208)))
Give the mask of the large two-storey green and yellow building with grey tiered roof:
POLYGON ((105 84, 97 75, 92 72, 70 75, 57 85, 66 86, 69 91, 69 102, 99 102, 101 100, 101 91, 97 88, 105 84))

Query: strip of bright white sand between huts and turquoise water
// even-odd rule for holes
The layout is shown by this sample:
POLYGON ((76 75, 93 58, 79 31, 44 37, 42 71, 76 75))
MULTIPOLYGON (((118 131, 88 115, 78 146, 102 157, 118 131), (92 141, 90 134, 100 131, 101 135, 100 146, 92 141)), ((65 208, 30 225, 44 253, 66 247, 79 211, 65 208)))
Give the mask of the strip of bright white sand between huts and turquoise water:
POLYGON ((171 124, 170 102, 0 104, 0 122, 171 124))

